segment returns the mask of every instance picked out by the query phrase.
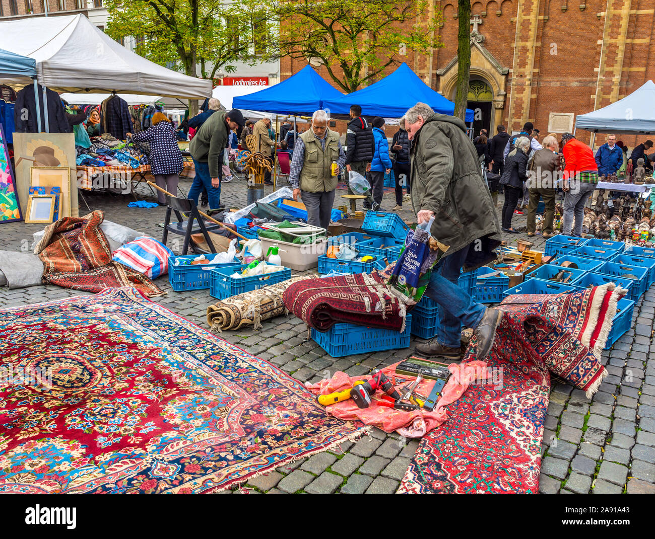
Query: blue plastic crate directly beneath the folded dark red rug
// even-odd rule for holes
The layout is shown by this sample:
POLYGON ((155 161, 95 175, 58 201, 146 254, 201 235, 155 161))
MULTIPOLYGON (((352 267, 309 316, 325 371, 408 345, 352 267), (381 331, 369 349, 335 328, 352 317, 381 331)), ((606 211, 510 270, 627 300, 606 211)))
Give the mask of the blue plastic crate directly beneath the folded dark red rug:
POLYGON ((409 346, 409 333, 412 326, 412 315, 405 318, 405 330, 383 330, 367 328, 355 324, 334 324, 326 332, 312 328, 312 339, 316 341, 332 357, 343 357, 381 350, 397 350, 409 346))

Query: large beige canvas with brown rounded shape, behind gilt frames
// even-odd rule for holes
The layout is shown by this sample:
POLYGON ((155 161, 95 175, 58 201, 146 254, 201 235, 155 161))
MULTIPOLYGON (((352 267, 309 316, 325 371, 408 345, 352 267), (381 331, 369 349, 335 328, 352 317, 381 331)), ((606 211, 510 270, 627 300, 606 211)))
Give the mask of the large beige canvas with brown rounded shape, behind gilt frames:
POLYGON ((25 211, 31 178, 31 167, 69 167, 69 214, 63 208, 60 217, 79 217, 77 201, 77 168, 73 133, 14 133, 16 190, 22 211, 25 211))

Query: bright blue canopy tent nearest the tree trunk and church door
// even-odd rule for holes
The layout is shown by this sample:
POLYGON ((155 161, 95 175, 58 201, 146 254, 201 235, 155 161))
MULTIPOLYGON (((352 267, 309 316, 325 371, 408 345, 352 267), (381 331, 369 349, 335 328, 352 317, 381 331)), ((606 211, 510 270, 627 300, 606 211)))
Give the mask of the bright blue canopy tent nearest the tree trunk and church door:
MULTIPOLYGON (((348 114, 350 105, 362 107, 364 116, 400 118, 416 103, 430 105, 436 113, 453 115, 455 103, 425 84, 409 65, 402 63, 394 73, 346 96, 326 97, 323 108, 331 114, 348 114)), ((466 122, 473 121, 473 111, 466 109, 466 122)))

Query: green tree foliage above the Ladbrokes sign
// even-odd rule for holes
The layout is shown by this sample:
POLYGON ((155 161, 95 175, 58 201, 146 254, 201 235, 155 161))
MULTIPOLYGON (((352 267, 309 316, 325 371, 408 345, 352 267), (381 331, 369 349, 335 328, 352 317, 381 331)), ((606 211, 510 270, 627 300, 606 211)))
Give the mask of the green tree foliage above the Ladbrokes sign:
POLYGON ((259 46, 276 26, 274 9, 261 0, 105 0, 105 6, 109 36, 133 36, 138 54, 181 65, 193 77, 196 64, 203 78, 214 78, 219 69, 233 73, 236 61, 273 58, 271 48, 259 46))

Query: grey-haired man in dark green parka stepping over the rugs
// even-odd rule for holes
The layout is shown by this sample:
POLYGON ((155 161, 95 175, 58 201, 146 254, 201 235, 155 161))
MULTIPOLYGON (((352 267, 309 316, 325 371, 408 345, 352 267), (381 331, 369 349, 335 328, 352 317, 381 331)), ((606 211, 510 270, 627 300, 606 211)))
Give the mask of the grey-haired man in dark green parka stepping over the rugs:
POLYGON ((420 223, 449 249, 432 268, 425 295, 439 306, 436 339, 416 345, 423 356, 459 360, 462 325, 474 330, 477 359, 491 350, 501 312, 476 303, 458 287, 463 271, 493 262, 500 245, 500 227, 491 193, 482 178, 477 150, 457 116, 435 114, 425 103, 405 113, 413 141, 410 159, 411 202, 420 223))

